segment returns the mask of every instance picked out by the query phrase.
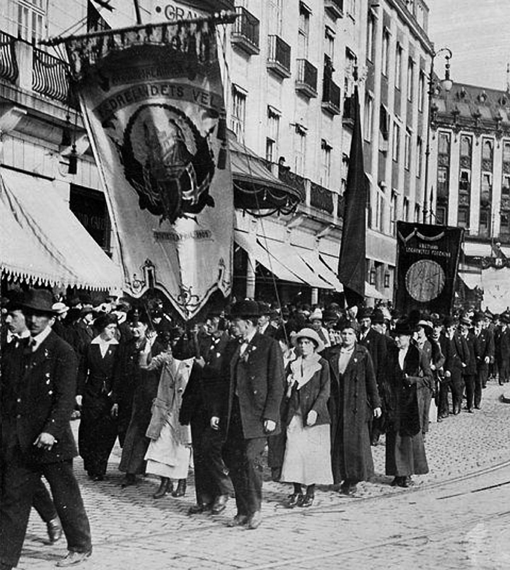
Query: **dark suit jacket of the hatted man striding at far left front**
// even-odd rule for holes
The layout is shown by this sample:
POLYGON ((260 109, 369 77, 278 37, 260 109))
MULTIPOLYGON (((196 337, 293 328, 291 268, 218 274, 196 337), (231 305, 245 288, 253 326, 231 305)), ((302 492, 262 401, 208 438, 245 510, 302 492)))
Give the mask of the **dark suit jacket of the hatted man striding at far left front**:
MULTIPOLYGON (((17 357, 20 357, 18 354, 17 357)), ((23 350, 23 370, 18 377, 4 374, 0 416, 2 442, 17 440, 21 453, 31 462, 57 463, 76 457, 71 431, 75 405, 77 360, 74 350, 55 332, 38 349, 23 350), (51 450, 35 447, 40 433, 55 438, 51 450)))

